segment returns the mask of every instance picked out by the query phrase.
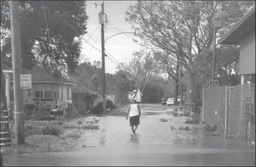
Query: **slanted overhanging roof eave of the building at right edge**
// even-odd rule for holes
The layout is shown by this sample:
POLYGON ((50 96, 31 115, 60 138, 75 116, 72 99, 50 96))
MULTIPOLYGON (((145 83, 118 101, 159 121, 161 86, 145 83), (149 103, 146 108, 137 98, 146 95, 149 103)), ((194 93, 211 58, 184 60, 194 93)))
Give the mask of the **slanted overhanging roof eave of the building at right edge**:
POLYGON ((255 7, 252 7, 245 16, 223 35, 218 44, 239 45, 246 37, 255 31, 255 7))

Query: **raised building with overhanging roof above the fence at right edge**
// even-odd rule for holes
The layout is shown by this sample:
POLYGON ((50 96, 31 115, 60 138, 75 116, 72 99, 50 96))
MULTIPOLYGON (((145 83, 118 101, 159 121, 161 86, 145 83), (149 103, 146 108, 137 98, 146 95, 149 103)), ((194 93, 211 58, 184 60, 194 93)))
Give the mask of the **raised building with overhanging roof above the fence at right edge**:
POLYGON ((255 7, 240 18, 218 41, 218 44, 240 45, 239 74, 241 84, 245 75, 255 75, 255 7))

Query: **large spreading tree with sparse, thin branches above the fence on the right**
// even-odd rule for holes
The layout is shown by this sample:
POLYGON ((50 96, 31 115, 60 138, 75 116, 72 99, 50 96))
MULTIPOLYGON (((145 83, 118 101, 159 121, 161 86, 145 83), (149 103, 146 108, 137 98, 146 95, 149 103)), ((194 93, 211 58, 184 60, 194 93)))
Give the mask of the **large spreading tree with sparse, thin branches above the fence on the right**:
POLYGON ((211 58, 214 22, 224 23, 219 37, 253 4, 255 1, 137 1, 125 13, 125 21, 136 30, 142 46, 151 44, 179 58, 190 75, 190 99, 195 103, 195 92, 205 75, 201 68, 211 69, 211 60, 206 60, 211 58))

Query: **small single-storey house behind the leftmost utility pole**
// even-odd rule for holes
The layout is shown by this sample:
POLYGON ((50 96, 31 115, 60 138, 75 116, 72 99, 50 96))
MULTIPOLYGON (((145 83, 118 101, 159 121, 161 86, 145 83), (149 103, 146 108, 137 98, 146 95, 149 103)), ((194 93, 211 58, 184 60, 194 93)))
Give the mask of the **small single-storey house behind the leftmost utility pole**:
MULTIPOLYGON (((13 98, 13 69, 3 64, 3 73, 6 79, 7 104, 14 101, 13 98)), ((45 69, 34 67, 33 70, 22 69, 21 74, 30 74, 32 89, 22 89, 23 103, 38 105, 39 100, 42 106, 63 106, 65 103, 72 103, 72 86, 75 84, 67 79, 59 80, 47 74, 45 69), (63 85, 63 86, 62 86, 63 85)))

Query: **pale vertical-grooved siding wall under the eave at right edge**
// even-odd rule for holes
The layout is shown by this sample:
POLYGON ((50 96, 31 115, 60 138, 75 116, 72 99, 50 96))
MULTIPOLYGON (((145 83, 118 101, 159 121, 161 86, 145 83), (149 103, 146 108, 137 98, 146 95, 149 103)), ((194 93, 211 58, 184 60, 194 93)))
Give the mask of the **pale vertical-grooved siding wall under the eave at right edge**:
POLYGON ((255 32, 240 44, 240 75, 255 74, 255 32))

